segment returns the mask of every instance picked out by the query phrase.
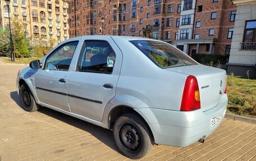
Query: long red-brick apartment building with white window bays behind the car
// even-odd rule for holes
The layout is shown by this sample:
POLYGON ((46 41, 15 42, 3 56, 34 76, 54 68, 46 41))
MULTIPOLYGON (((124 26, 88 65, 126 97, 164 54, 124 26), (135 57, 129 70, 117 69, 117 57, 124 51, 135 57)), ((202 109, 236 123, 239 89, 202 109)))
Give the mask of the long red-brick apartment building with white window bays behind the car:
POLYGON ((69 0, 68 4, 70 38, 143 36, 143 28, 150 24, 153 39, 187 54, 230 52, 236 15, 230 0, 69 0))

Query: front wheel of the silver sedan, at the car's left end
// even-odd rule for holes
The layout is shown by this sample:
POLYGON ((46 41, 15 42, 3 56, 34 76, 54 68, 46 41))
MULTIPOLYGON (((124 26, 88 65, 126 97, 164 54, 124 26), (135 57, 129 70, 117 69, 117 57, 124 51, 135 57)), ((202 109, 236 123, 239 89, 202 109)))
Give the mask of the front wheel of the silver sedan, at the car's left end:
POLYGON ((26 84, 20 86, 20 102, 25 111, 38 111, 40 105, 35 102, 34 96, 31 94, 29 87, 26 84))

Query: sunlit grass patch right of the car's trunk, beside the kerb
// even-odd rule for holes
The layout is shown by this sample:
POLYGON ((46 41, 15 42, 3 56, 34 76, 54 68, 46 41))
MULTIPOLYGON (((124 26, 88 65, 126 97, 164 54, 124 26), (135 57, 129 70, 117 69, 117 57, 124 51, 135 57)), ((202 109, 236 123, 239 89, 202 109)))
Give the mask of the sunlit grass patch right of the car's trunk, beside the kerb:
POLYGON ((227 76, 227 112, 256 118, 256 79, 227 76))

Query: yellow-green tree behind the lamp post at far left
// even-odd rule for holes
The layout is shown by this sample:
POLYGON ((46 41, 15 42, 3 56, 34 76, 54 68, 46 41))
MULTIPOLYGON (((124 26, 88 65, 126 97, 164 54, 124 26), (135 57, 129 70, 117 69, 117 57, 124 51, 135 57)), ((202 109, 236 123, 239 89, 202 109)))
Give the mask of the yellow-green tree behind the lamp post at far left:
MULTIPOLYGON (((11 22, 11 30, 15 57, 30 57, 31 47, 29 44, 29 38, 26 38, 26 34, 24 32, 24 24, 19 20, 13 19, 11 22)), ((4 56, 10 56, 10 51, 10 30, 8 27, 5 27, 0 34, 0 52, 4 56)))

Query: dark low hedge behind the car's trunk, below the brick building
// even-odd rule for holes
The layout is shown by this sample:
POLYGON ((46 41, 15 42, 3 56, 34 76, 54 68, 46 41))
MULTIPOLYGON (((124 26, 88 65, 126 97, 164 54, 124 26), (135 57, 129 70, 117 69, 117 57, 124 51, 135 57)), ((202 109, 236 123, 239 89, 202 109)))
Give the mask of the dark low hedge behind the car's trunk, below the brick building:
POLYGON ((212 62, 213 65, 217 65, 219 61, 221 64, 226 64, 228 57, 229 55, 223 56, 219 54, 192 54, 192 58, 203 65, 209 65, 212 62))

